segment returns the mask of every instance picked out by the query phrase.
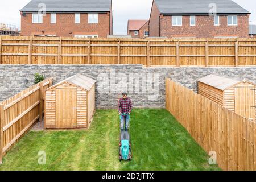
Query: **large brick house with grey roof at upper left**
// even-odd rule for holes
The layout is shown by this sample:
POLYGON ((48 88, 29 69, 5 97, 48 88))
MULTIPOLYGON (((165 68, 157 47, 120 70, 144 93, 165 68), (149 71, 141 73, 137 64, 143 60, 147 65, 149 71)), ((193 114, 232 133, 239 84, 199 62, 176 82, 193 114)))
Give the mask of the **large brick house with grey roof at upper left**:
POLYGON ((20 14, 22 36, 106 38, 113 34, 112 0, 32 0, 20 14))

